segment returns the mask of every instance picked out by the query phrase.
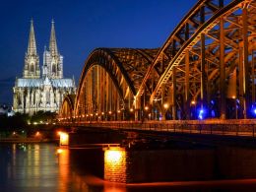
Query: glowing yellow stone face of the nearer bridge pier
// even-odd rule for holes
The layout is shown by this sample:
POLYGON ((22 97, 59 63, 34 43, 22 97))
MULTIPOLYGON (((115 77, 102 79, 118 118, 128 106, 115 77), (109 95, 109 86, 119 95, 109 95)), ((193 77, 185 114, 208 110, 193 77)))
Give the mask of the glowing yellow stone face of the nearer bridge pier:
POLYGON ((104 149, 104 179, 111 182, 126 182, 126 152, 119 147, 104 149))

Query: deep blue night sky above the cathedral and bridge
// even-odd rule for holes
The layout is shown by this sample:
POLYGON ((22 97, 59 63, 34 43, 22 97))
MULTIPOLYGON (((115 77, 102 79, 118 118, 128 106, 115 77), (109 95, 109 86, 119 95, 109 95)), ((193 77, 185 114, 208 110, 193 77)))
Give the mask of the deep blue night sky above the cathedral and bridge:
POLYGON ((97 47, 160 47, 197 0, 1 0, 0 103, 12 104, 15 78, 22 77, 33 20, 42 64, 51 20, 64 77, 77 85, 88 55, 97 47))

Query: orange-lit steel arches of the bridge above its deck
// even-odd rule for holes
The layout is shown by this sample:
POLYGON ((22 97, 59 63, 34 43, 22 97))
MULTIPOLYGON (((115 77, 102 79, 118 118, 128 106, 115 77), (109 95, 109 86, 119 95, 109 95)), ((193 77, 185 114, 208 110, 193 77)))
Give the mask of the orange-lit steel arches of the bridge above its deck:
MULTIPOLYGON (((256 1, 199 0, 160 48, 94 50, 69 115, 84 120, 251 118, 255 57, 256 1)), ((64 100, 62 108, 68 103, 64 100)), ((67 118, 62 111, 60 119, 67 118)))

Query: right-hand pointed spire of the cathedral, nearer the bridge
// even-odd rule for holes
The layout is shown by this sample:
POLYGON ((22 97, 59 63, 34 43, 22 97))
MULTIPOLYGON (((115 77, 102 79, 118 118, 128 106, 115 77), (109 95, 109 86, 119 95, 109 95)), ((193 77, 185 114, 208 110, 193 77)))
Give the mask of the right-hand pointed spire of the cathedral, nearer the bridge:
POLYGON ((43 52, 43 73, 50 79, 63 78, 63 56, 59 54, 54 28, 54 21, 51 22, 49 51, 44 48, 43 52))

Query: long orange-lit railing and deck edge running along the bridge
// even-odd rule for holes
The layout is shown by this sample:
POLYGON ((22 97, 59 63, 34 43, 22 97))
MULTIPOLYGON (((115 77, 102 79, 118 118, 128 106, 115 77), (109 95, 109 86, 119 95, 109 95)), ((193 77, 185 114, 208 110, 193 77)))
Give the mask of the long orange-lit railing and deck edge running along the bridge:
POLYGON ((124 130, 148 130, 173 133, 214 134, 255 137, 256 119, 208 119, 170 121, 75 121, 64 126, 100 127, 124 130))

